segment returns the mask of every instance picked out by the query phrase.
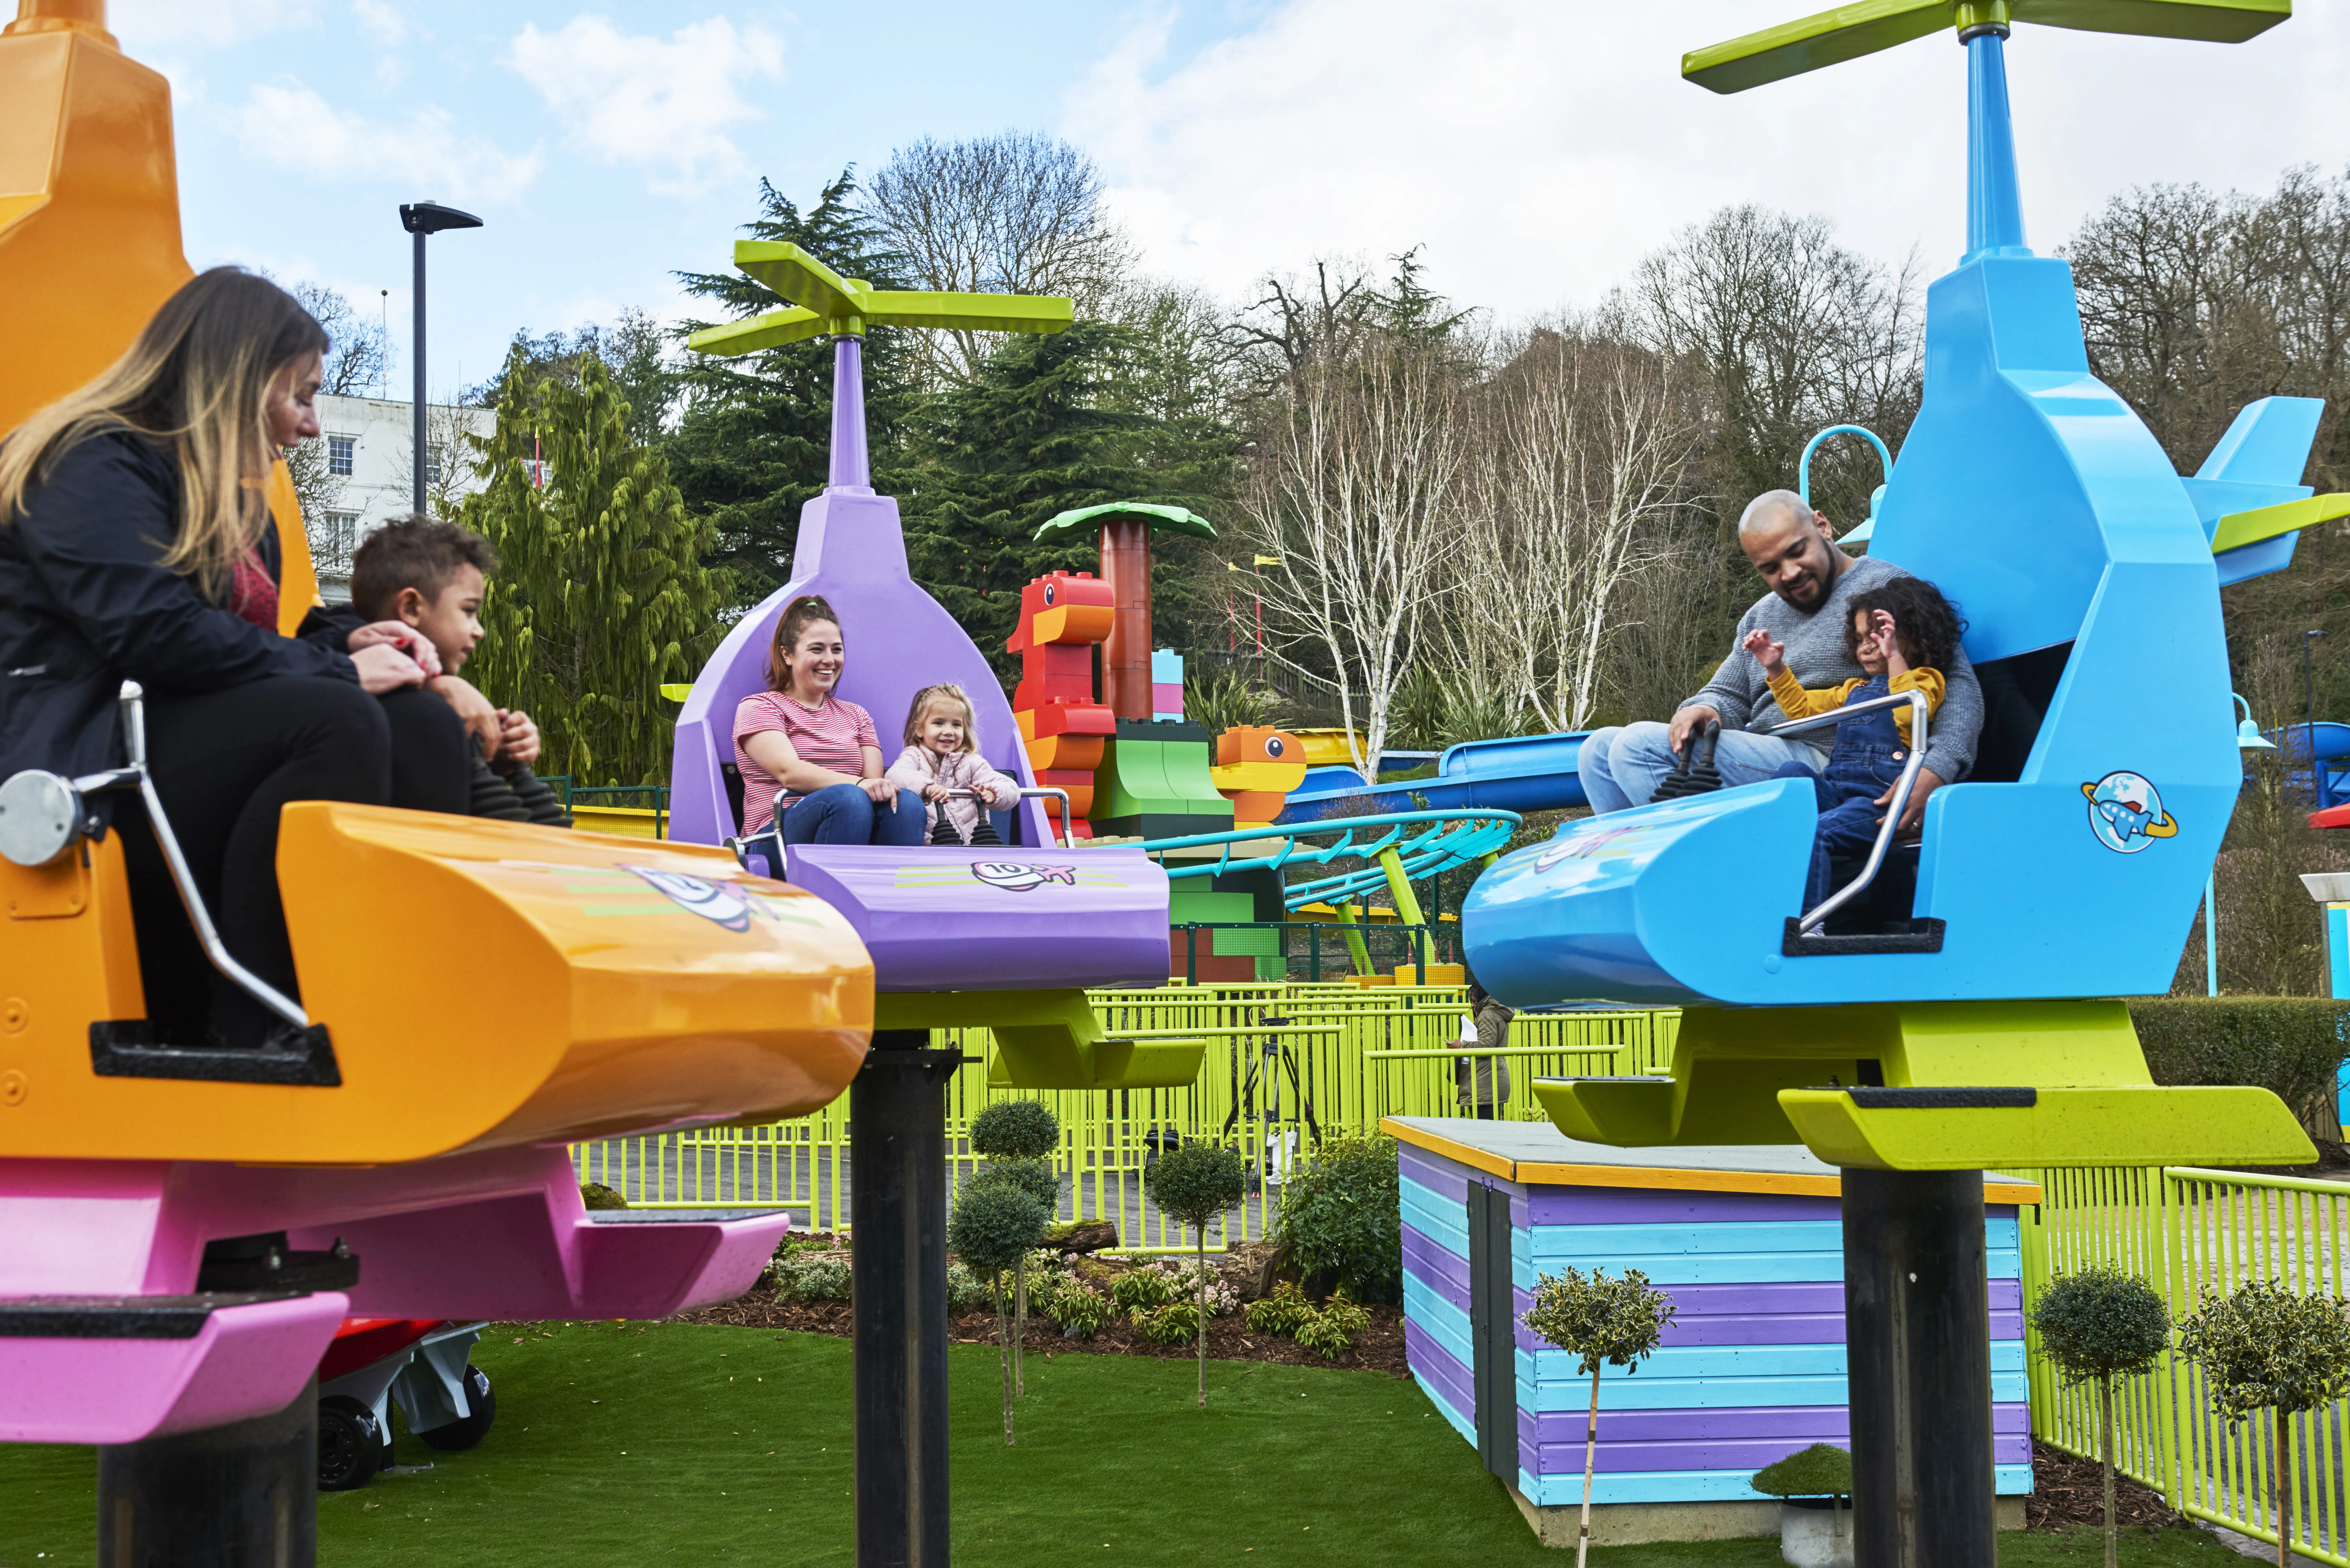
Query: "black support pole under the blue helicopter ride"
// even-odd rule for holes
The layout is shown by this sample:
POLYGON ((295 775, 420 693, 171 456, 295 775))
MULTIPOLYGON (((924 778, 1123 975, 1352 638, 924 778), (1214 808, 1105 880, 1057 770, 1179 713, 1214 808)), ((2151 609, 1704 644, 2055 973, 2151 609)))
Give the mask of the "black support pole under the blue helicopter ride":
POLYGON ((1993 1568, 1983 1173, 1842 1178, 1854 1561, 1993 1568))

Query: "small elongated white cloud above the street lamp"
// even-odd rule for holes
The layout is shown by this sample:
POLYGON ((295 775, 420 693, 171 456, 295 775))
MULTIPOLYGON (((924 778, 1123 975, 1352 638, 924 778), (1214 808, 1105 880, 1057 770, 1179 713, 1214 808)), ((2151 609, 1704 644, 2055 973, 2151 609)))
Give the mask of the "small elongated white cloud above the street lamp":
POLYGON ((237 108, 237 136, 256 160, 291 172, 397 181, 416 197, 508 197, 538 174, 538 153, 508 153, 423 106, 402 120, 336 110, 296 80, 266 82, 237 108))

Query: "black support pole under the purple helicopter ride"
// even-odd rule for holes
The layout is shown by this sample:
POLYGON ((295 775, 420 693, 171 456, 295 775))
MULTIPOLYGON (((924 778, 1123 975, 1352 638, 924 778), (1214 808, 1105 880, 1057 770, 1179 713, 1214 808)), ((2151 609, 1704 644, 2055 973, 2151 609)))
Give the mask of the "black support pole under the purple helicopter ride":
POLYGON ((947 1566, 947 1079, 961 1051, 877 1030, 848 1084, 858 1568, 947 1566))

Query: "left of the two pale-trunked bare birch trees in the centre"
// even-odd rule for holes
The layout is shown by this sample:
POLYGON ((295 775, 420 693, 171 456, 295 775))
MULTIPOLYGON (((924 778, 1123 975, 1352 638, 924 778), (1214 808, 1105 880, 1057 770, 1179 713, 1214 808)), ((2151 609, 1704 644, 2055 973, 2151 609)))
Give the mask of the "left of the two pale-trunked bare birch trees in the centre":
POLYGON ((1450 355, 1372 339, 1302 376, 1243 489, 1241 541, 1276 559, 1257 567, 1267 651, 1337 696, 1365 778, 1457 543, 1462 393, 1450 355))

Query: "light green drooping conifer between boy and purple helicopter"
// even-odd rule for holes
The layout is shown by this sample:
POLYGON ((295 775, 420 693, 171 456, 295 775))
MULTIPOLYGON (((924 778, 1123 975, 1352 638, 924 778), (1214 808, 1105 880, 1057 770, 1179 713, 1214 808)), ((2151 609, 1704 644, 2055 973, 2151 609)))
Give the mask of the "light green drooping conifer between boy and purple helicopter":
POLYGON ((543 773, 660 783, 658 689, 693 679, 724 632, 721 574, 703 564, 710 524, 686 515, 660 449, 630 437, 630 407, 595 355, 564 378, 533 374, 515 348, 496 433, 468 440, 489 489, 458 517, 501 562, 468 677, 538 722, 543 773))

